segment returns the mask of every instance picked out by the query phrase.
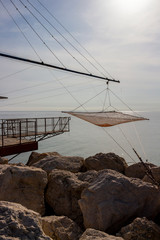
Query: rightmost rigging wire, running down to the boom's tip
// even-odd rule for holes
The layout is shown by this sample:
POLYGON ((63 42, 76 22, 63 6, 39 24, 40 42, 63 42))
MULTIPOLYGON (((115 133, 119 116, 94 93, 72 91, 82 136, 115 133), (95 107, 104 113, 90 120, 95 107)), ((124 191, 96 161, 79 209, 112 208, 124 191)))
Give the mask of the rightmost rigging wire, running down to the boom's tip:
POLYGON ((42 4, 39 0, 37 0, 37 2, 39 2, 39 4, 49 13, 49 15, 72 37, 72 39, 88 54, 88 56, 90 56, 98 65, 99 67, 101 67, 105 73, 107 73, 112 79, 114 79, 114 77, 108 72, 106 71, 106 69, 89 53, 89 51, 73 36, 73 34, 71 34, 68 29, 53 15, 53 13, 51 13, 45 6, 44 4, 42 4))

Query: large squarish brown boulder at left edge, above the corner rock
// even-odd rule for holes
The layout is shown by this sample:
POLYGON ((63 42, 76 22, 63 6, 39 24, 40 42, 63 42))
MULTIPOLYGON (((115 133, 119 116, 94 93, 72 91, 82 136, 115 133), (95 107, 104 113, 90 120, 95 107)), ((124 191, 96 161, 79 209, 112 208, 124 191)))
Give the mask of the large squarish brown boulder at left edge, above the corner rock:
POLYGON ((43 215, 47 182, 47 174, 42 169, 0 165, 0 200, 20 203, 43 215))

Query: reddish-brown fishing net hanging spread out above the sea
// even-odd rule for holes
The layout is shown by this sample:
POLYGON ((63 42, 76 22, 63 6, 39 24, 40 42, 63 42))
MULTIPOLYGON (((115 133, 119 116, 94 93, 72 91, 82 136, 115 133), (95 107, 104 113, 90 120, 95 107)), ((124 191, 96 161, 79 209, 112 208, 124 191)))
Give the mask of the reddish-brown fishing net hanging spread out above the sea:
POLYGON ((148 120, 122 112, 65 112, 100 127, 110 127, 121 123, 148 120))

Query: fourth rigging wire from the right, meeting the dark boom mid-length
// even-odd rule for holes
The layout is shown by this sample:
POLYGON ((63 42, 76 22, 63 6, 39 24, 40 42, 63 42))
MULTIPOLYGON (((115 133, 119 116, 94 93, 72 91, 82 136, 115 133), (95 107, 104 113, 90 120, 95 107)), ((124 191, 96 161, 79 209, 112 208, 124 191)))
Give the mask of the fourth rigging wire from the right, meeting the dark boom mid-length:
POLYGON ((21 15, 21 17, 25 20, 25 22, 30 26, 30 28, 33 30, 33 32, 37 35, 37 37, 41 40, 41 42, 47 47, 47 49, 53 54, 53 56, 58 60, 58 62, 64 67, 65 65, 61 62, 61 60, 56 56, 56 54, 51 50, 51 48, 44 42, 44 40, 41 38, 41 36, 38 34, 38 32, 32 27, 32 25, 29 23, 29 21, 23 16, 19 8, 13 3, 12 0, 10 0, 14 8, 18 11, 18 13, 21 15))

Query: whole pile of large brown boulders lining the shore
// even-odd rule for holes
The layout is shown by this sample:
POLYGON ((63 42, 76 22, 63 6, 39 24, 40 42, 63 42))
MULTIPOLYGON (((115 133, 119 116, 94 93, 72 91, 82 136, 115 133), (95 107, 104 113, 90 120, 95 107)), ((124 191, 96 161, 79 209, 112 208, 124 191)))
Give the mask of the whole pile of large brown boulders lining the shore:
MULTIPOLYGON (((159 181, 159 167, 148 166, 159 181)), ((114 153, 33 152, 26 165, 2 159, 0 183, 2 240, 160 239, 160 189, 141 164, 114 153)))

